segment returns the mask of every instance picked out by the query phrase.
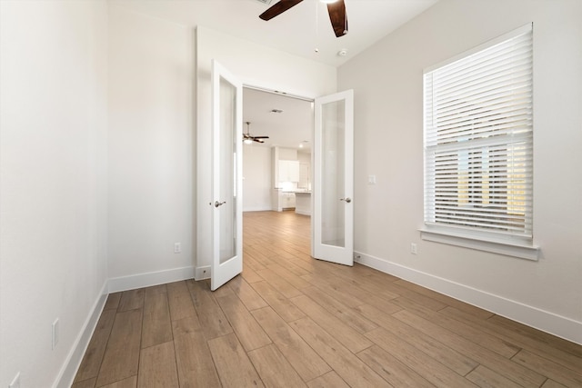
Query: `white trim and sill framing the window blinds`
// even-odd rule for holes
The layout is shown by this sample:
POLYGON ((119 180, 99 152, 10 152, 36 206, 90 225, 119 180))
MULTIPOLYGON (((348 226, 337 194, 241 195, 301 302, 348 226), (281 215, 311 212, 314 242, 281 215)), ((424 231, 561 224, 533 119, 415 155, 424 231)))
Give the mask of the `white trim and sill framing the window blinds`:
MULTIPOLYGON (((443 66, 453 64, 460 59, 466 58, 467 56, 474 55, 482 50, 485 50, 493 45, 503 43, 511 38, 518 35, 523 35, 528 32, 533 34, 533 24, 528 23, 523 25, 516 30, 508 32, 507 34, 497 36, 497 38, 487 41, 482 45, 477 45, 476 47, 455 55, 452 58, 448 58, 446 61, 442 61, 437 65, 432 65, 427 67, 423 71, 423 77, 427 73, 433 72, 443 66)), ((423 81, 424 83, 424 81, 423 81)), ((423 99, 426 99, 425 92, 423 92, 423 99)), ((425 104, 425 103, 423 103, 425 104)), ((426 105, 424 105, 424 110, 426 111, 426 105)), ((426 120, 426 114, 423 114, 423 120, 426 120)), ((426 139, 426 124, 423 125, 423 137, 426 139)), ((533 152, 533 150, 532 150, 533 152)), ((424 179, 426 180, 426 149, 424 151, 425 163, 424 163, 424 179)), ((533 163, 533 162, 532 162, 533 163)), ((533 190, 533 189, 532 189, 533 190)), ((533 194, 533 191, 532 193, 533 194)), ((423 188, 423 202, 424 210, 423 214, 426 212, 426 182, 423 188)), ((533 214, 529 214, 533 216, 533 214)), ((424 216, 426 217, 426 215, 424 216)), ((533 225, 532 225, 533 227, 533 225)), ((424 218, 423 227, 418 229, 420 232, 421 239, 426 241, 432 241, 442 244, 451 244, 456 246, 462 246, 470 249, 475 249, 478 251, 486 251, 495 254, 504 254, 508 256, 523 258, 527 260, 537 261, 539 256, 540 248, 534 244, 533 241, 533 229, 531 230, 531 236, 519 236, 517 234, 504 234, 504 233, 489 233, 483 230, 471 230, 470 228, 449 226, 446 224, 431 224, 424 218)))

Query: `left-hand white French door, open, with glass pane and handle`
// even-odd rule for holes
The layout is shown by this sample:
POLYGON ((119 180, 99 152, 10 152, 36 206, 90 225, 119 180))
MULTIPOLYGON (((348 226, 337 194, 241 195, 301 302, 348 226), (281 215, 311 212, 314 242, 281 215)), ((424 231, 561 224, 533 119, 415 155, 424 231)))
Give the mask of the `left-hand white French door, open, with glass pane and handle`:
POLYGON ((212 291, 243 271, 242 101, 242 83, 213 61, 212 291))

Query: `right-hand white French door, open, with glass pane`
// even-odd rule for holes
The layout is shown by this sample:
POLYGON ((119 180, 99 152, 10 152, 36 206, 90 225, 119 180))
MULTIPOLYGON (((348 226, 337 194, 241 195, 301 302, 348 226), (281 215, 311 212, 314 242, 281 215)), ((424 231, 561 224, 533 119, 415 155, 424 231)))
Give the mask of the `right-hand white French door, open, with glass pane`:
POLYGON ((316 98, 312 256, 354 265, 354 91, 316 98))

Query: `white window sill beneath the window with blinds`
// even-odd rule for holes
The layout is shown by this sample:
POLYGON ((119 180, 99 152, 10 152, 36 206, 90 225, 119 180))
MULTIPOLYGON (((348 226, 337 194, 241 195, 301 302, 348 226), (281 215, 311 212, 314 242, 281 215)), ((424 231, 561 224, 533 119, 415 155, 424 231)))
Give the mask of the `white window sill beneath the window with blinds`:
POLYGON ((419 229, 420 238, 435 243, 457 245, 465 248, 476 249, 477 251, 491 252, 493 254, 505 254, 507 256, 519 257, 521 259, 537 261, 539 247, 533 244, 521 242, 502 242, 486 240, 481 237, 457 234, 445 231, 419 229))

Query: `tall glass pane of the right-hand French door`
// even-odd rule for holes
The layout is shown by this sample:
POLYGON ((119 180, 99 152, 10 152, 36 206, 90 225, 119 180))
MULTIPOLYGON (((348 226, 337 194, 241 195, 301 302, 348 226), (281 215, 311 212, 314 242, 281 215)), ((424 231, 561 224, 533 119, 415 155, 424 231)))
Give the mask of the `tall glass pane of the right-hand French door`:
POLYGON ((344 247, 345 211, 345 123, 344 101, 322 105, 322 243, 344 247))

